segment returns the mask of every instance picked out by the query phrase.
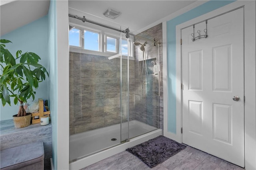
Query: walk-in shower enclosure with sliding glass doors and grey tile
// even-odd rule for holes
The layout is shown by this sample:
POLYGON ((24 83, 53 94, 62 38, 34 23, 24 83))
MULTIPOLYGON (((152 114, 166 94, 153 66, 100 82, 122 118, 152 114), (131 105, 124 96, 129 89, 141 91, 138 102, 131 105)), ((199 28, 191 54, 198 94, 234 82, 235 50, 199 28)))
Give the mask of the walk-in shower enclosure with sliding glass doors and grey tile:
POLYGON ((150 35, 133 36, 127 27, 113 31, 70 16, 72 163, 159 129, 160 49, 150 35), (85 50, 93 41, 90 32, 103 37, 98 51, 85 50), (72 44, 72 36, 79 45, 72 44))

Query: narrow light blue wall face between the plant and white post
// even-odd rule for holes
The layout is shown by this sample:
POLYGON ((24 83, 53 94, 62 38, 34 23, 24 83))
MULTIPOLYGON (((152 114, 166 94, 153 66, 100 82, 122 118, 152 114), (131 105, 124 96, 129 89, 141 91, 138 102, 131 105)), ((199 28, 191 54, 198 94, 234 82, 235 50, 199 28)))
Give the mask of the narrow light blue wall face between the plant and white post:
POLYGON ((50 1, 48 11, 48 70, 49 78, 49 104, 52 118, 52 159, 54 169, 57 168, 57 33, 56 33, 56 1, 50 1))

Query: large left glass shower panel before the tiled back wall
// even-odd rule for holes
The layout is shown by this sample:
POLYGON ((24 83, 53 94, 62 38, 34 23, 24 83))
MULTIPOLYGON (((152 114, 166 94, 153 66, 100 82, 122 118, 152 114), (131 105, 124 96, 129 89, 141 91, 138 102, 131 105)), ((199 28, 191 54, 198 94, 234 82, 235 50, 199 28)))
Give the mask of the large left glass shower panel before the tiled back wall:
MULTIPOLYGON (((94 25, 92 28, 92 25, 86 25, 87 23, 80 25, 82 24, 80 20, 74 21, 77 26, 71 27, 69 39, 70 162, 120 145, 121 141, 126 141, 129 138, 129 97, 127 96, 129 67, 127 57, 109 59, 110 53, 120 52, 120 42, 122 38, 124 39, 125 34, 121 38, 118 31, 102 28, 99 25, 94 25), (90 35, 82 35, 82 33, 87 27, 110 33, 106 35, 116 35, 110 36, 112 39, 108 39, 106 47, 108 47, 107 52, 110 53, 101 54, 95 52, 96 50, 84 51, 86 44, 83 39, 90 35), (73 35, 74 39, 77 42, 81 40, 80 45, 77 42, 71 43, 73 32, 76 33, 73 35), (75 45, 76 47, 74 47, 75 45), (79 46, 81 49, 77 50, 79 46)), ((99 37, 104 37, 104 35, 92 37, 91 41, 99 37)), ((101 45, 96 46, 104 48, 103 39, 94 42, 102 42, 101 45)), ((123 45, 122 47, 125 52, 127 46, 123 45)))

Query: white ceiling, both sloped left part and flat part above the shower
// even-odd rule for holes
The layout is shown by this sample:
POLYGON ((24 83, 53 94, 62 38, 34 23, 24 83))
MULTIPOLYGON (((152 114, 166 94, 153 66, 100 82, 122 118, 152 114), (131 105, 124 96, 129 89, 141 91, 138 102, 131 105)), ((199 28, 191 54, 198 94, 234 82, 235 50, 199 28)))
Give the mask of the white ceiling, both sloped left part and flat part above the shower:
MULTIPOLYGON (((69 0, 69 13, 112 27, 140 31, 148 25, 196 2, 195 0, 69 0), (112 20, 107 8, 122 14, 112 20)), ((48 14, 49 0, 0 0, 0 35, 48 14)), ((82 21, 81 21, 82 22, 82 21)))

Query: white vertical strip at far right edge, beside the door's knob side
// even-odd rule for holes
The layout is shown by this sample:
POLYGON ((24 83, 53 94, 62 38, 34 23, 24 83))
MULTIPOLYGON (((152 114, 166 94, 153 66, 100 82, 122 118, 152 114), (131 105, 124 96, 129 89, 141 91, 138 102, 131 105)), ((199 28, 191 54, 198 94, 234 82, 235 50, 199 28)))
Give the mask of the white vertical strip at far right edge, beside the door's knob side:
POLYGON ((256 2, 244 6, 245 168, 256 169, 256 2))

